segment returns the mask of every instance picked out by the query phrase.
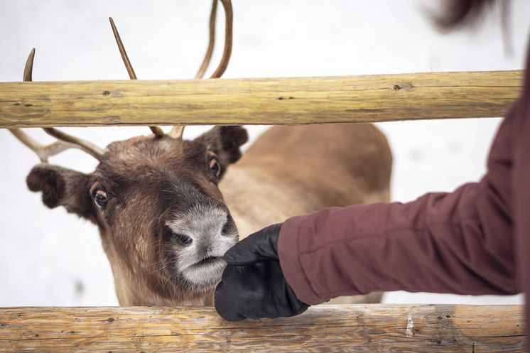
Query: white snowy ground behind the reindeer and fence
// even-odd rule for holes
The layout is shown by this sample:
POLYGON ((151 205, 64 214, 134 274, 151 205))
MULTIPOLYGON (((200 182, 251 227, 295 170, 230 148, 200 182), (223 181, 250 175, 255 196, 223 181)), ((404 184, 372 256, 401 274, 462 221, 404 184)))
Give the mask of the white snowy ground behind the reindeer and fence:
MULTIPOLYGON (((433 1, 234 0, 234 51, 225 77, 513 70, 523 67, 530 3, 512 1, 513 52, 504 54, 499 13, 475 31, 442 36, 424 9, 433 1)), ((210 0, 0 0, 0 81, 19 81, 31 48, 33 80, 126 79, 110 31, 113 16, 140 79, 190 78, 207 44, 210 0)), ((217 23, 219 32, 222 20, 217 23)), ((221 51, 218 41, 216 57, 221 51)), ((214 60, 215 61, 215 60, 214 60)), ((1 92, 0 92, 1 97, 1 92)), ((480 178, 500 119, 379 124, 394 151, 393 200, 453 190, 480 178)), ((204 127, 188 129, 193 137, 204 127)), ((253 137, 263 126, 250 126, 253 137)), ((100 146, 141 128, 68 129, 100 146)), ((31 131, 50 141, 40 131, 31 131)), ((0 306, 117 305, 97 229, 48 210, 25 178, 38 162, 0 130, 0 306)), ((85 172, 77 151, 53 163, 85 172)), ((388 293, 386 303, 521 303, 521 296, 388 293)))

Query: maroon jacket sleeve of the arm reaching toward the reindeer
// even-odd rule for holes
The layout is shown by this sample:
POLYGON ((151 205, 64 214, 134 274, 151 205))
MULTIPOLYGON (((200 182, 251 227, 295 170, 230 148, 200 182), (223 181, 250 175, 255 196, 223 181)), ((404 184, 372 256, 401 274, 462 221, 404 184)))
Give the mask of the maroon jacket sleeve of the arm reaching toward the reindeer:
POLYGON ((502 122, 479 183, 405 204, 352 205, 287 219, 278 252, 298 298, 313 305, 375 290, 519 293, 511 174, 517 107, 502 122))

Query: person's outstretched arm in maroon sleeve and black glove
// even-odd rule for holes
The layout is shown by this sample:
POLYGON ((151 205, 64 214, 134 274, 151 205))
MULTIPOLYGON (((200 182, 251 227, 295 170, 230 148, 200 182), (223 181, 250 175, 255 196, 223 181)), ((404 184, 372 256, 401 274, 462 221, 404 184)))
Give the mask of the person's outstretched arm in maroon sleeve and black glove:
MULTIPOLYGON (((527 106, 515 104, 502 122, 480 183, 406 204, 335 207, 292 217, 281 228, 266 227, 240 241, 225 254, 217 313, 227 320, 296 315, 305 304, 376 290, 519 293, 512 194, 528 200, 528 190, 512 190, 514 132, 524 131, 514 128, 514 116, 526 118, 518 109, 527 106)), ((519 153, 528 156, 527 149, 519 153)), ((518 168, 527 168, 524 163, 518 168)), ((516 210, 519 224, 524 207, 516 210)), ((520 273, 528 272, 524 268, 520 273)))

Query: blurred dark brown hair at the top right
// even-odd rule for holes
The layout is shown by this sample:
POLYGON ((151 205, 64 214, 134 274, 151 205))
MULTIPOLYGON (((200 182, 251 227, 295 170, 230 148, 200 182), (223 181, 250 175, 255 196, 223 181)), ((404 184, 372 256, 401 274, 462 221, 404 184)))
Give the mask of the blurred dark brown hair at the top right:
POLYGON ((443 0, 440 13, 432 15, 433 21, 441 31, 474 23, 493 0, 443 0))

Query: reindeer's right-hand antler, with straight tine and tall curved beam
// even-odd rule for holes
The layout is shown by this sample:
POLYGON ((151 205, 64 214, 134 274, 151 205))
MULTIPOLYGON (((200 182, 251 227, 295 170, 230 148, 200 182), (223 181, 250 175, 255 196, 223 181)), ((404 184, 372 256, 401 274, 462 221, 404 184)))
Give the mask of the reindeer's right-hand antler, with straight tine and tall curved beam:
MULTIPOLYGON (((210 78, 219 78, 222 76, 222 74, 225 72, 228 66, 228 62, 230 60, 230 54, 232 53, 232 18, 233 18, 233 12, 232 12, 232 1, 230 0, 220 0, 222 3, 223 8, 225 9, 225 50, 222 53, 221 62, 217 66, 217 69, 215 69, 215 72, 212 74, 210 78)), ((205 71, 210 65, 210 60, 212 59, 212 53, 215 43, 215 18, 217 14, 217 0, 212 1, 212 11, 210 13, 210 40, 208 43, 208 48, 206 50, 206 55, 204 60, 202 60, 202 65, 200 65, 200 69, 197 72, 197 75, 195 75, 196 79, 202 78, 202 76, 205 74, 205 71)), ((118 30, 116 28, 116 25, 114 24, 114 20, 112 20, 112 17, 109 18, 110 26, 112 27, 112 32, 114 33, 114 38, 116 38, 116 43, 118 44, 119 53, 121 54, 121 59, 124 60, 124 65, 127 69, 127 72, 129 72, 129 77, 131 80, 136 80, 136 74, 134 73, 134 69, 131 65, 131 61, 129 60, 129 57, 127 56, 127 53, 125 51, 125 47, 123 42, 121 41, 121 37, 119 36, 118 30)), ((175 125, 171 129, 171 131, 168 133, 168 136, 173 137, 174 139, 182 139, 182 134, 184 131, 184 125, 175 125)), ((153 134, 157 137, 162 137, 164 135, 162 129, 160 129, 158 126, 149 126, 151 131, 153 131, 153 134)))

